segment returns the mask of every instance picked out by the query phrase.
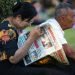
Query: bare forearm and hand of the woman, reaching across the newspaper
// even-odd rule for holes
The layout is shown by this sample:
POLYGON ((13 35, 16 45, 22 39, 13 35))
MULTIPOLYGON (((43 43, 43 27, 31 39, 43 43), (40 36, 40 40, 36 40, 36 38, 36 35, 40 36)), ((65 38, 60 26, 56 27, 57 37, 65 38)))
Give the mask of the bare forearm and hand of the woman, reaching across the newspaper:
POLYGON ((27 41, 24 43, 24 45, 19 48, 14 56, 11 56, 9 58, 9 61, 11 63, 18 63, 21 59, 23 59, 23 57, 25 57, 25 55, 27 54, 27 51, 29 49, 29 47, 32 45, 32 43, 34 42, 34 40, 36 40, 38 37, 40 37, 43 34, 43 32, 41 32, 40 28, 37 27, 35 29, 33 29, 30 32, 29 38, 27 39, 27 41))

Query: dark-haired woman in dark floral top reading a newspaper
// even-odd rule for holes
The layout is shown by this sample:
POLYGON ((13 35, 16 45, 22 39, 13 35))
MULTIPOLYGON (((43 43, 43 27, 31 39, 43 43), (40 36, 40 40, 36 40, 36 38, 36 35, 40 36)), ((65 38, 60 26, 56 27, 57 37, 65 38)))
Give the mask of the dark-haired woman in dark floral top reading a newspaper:
POLYGON ((13 15, 6 18, 0 25, 0 75, 61 75, 61 72, 54 69, 23 65, 22 58, 25 57, 28 48, 43 32, 39 27, 34 28, 26 43, 18 49, 17 31, 29 26, 37 13, 28 2, 17 3, 12 10, 13 15))

